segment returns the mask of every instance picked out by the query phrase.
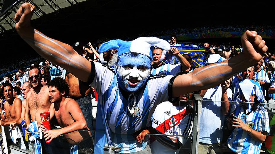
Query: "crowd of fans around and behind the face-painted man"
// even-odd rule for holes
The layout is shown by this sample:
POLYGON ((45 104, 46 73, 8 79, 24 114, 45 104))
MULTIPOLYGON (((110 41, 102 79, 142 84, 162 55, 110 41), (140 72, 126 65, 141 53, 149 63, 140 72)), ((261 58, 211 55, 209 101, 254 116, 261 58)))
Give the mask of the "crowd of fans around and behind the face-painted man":
MULTIPOLYGON (((262 27, 254 28, 258 30, 262 27)), ((273 29, 273 27, 267 28, 273 29)), ((206 29, 205 27, 201 27, 193 31, 178 30, 177 33, 201 32, 206 29)), ((219 31, 220 29, 240 31, 247 29, 247 27, 217 27, 215 29, 209 29, 209 31, 219 31)), ((164 35, 169 33, 170 31, 164 35)), ((163 35, 163 33, 158 33, 158 35, 163 35)), ((73 48, 79 55, 89 61, 94 61, 95 63, 105 61, 104 64, 117 67, 117 50, 112 49, 102 54, 98 53, 100 45, 107 41, 108 39, 105 38, 99 39, 95 47, 92 46, 90 42, 84 45, 76 42, 73 48)), ((243 50, 241 45, 233 46, 228 45, 226 42, 223 44, 179 43, 177 42, 177 37, 174 35, 171 36, 169 43, 171 47, 209 47, 210 57, 205 61, 205 66, 228 60, 239 55, 243 50)), ((177 49, 173 50, 174 53, 172 53, 172 55, 179 60, 179 64, 165 64, 164 61, 160 61, 163 50, 158 47, 154 48, 152 75, 179 75, 190 73, 196 69, 191 67, 192 59, 188 54, 180 55, 177 49)), ((57 147, 51 147, 52 151, 55 151, 55 153, 64 153, 64 151, 72 151, 75 145, 81 145, 83 153, 93 153, 94 133, 91 99, 95 97, 97 99, 96 91, 92 87, 85 85, 85 83, 80 82, 78 78, 70 72, 66 72, 66 70, 60 66, 51 63, 49 60, 42 61, 41 59, 40 57, 35 60, 30 59, 28 62, 20 62, 23 66, 30 64, 31 66, 26 70, 22 66, 18 67, 15 74, 7 75, 4 77, 4 80, 1 81, 0 99, 2 121, 0 124, 10 126, 11 130, 17 129, 17 132, 24 130, 23 132, 31 136, 30 134, 33 133, 29 128, 34 125, 31 121, 36 118, 36 114, 38 112, 49 111, 51 115, 50 119, 52 120, 52 117, 55 115, 56 124, 59 124, 61 126, 60 130, 63 130, 62 133, 59 131, 57 134, 53 134, 53 131, 47 131, 41 123, 40 127, 44 133, 45 140, 53 142, 56 146, 60 145, 60 143, 63 144, 58 147, 62 148, 62 150, 57 147), (39 88, 39 93, 36 91, 37 87, 39 88), (35 104, 33 104, 33 106, 30 106, 30 104, 26 106, 26 100, 31 102, 31 99, 33 99, 31 95, 36 97, 33 93, 37 93, 39 100, 41 99, 41 101, 34 101, 39 107, 35 107, 35 104), (47 93, 47 97, 50 99, 45 98, 41 93, 47 93), (68 97, 71 99, 68 99, 68 97), (60 98, 62 99, 60 100, 60 98), (13 101, 12 103, 10 103, 11 100, 13 101), (70 107, 63 107, 63 112, 58 112, 55 111, 56 106, 51 105, 51 103, 59 103, 59 105, 65 103, 65 106, 67 103, 70 107), (11 109, 7 104, 15 104, 15 108, 11 109), (33 108, 35 108, 35 113, 33 108), (9 114, 12 113, 12 116, 7 115, 7 112, 9 112, 9 114), (67 112, 69 114, 66 114, 67 112), (62 116, 68 119, 72 118, 73 120, 70 122, 65 121, 60 118, 62 116), (70 127, 72 124, 78 125, 76 130, 64 129, 70 127), (23 125, 23 127, 17 128, 17 126, 21 125, 23 125), (24 126, 27 126, 26 130, 24 126), (80 133, 81 135, 72 134, 78 130, 82 130, 83 133, 80 133), (60 135, 64 135, 70 145, 67 146, 63 141, 60 142, 60 135), (79 136, 83 138, 79 138, 79 136)), ((8 69, 9 68, 3 68, 1 71, 5 73, 8 69)), ((145 135, 149 133, 178 135, 174 137, 150 136, 151 142, 149 145, 151 146, 152 153, 182 153, 183 150, 185 150, 185 153, 189 153, 191 149, 191 138, 186 136, 190 136, 192 133, 191 119, 193 117, 194 94, 199 94, 204 99, 200 119, 199 153, 220 153, 220 149, 224 147, 228 147, 235 153, 252 153, 251 151, 260 153, 261 145, 266 140, 266 137, 273 135, 271 134, 272 131, 269 130, 268 109, 265 107, 267 104, 264 105, 264 102, 275 99, 275 95, 273 94, 275 93, 275 84, 272 84, 272 82, 275 81, 274 71, 275 55, 267 52, 257 64, 247 68, 243 72, 239 72, 239 74, 221 85, 182 95, 173 102, 163 102, 159 104, 151 118, 151 127, 137 131, 133 136, 138 142, 143 143, 144 138, 146 138, 145 135), (251 91, 249 94, 245 93, 247 87, 252 87, 252 93, 251 91), (244 115, 246 117, 244 117, 244 115), (167 126, 167 124, 169 126, 167 126), (185 137, 181 137, 180 135, 185 135, 185 137), (239 140, 241 139, 238 138, 240 136, 242 136, 242 139, 243 137, 247 138, 247 140, 239 140)), ((59 107, 60 109, 62 108, 61 105, 58 106, 58 108, 59 107)), ((36 120, 38 123, 41 122, 40 118, 36 120)), ((14 138, 15 136, 11 133, 10 140, 18 145, 19 142, 15 142, 14 138)), ((7 137, 7 139, 9 140, 9 137, 7 137)), ((20 148, 28 149, 27 144, 25 144, 25 147, 22 146, 30 140, 30 137, 27 139, 28 137, 23 139, 20 148)), ((42 146, 44 146, 43 143, 42 146)), ((44 149, 42 148, 41 150, 44 149)), ((48 153, 51 153, 49 152, 51 150, 46 146, 48 153)), ((35 151, 37 152, 39 149, 35 148, 35 151)))

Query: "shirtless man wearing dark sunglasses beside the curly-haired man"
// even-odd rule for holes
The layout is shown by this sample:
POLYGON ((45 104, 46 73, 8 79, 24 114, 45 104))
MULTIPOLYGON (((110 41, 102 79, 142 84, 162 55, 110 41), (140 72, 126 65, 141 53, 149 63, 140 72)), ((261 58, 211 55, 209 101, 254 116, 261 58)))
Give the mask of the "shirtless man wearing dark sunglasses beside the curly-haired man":
POLYGON ((27 124, 26 132, 28 135, 30 135, 30 132, 28 132, 29 124, 36 120, 40 125, 40 113, 47 112, 51 106, 48 97, 49 88, 47 86, 42 86, 40 79, 40 70, 37 67, 31 68, 29 71, 29 82, 33 89, 27 94, 25 111, 25 123, 27 124))

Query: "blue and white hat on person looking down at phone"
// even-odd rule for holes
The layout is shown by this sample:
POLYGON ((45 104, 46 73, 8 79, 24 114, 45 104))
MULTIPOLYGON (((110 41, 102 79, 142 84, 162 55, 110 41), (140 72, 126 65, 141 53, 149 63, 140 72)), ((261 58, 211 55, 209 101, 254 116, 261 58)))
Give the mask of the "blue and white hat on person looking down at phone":
MULTIPOLYGON (((237 85, 237 93, 235 94, 234 98, 237 101, 241 101, 237 98, 238 95, 243 94, 244 98, 249 102, 250 95, 256 95, 257 99, 260 103, 264 104, 264 95, 261 90, 261 86, 259 82, 253 81, 251 79, 244 79, 237 85)), ((251 111, 250 103, 248 105, 249 111, 251 111)))

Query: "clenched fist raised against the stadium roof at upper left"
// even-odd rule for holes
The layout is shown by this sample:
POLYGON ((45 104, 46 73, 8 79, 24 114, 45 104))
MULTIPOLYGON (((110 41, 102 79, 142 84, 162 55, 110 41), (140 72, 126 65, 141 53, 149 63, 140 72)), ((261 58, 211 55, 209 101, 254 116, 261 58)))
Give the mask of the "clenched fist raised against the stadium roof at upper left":
POLYGON ((15 14, 15 30, 20 34, 23 32, 23 29, 31 26, 31 17, 33 16, 33 12, 35 10, 35 6, 30 3, 24 3, 20 6, 15 14))

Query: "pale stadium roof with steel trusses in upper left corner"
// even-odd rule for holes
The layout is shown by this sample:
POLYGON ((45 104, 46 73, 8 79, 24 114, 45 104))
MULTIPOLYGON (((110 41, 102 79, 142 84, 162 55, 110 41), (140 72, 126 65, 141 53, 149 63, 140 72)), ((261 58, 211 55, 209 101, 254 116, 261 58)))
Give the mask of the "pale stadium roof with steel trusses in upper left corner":
MULTIPOLYGON (((10 30, 12 28, 15 28, 15 20, 14 16, 16 14, 16 11, 19 9, 21 4, 28 2, 36 6, 36 10, 33 14, 32 19, 37 19, 39 17, 42 17, 46 14, 50 14, 52 12, 56 12, 60 9, 63 9, 68 6, 72 6, 74 4, 77 4, 82 1, 86 0, 0 0, 0 10, 2 12, 0 17, 0 34, 10 30), (6 1, 11 1, 11 6, 8 6, 8 8, 3 8, 3 4, 5 4, 6 1), (6 9, 6 12, 4 12, 6 9)), ((8 3, 8 2, 6 2, 8 3)), ((10 2, 9 2, 10 3, 10 2)))

